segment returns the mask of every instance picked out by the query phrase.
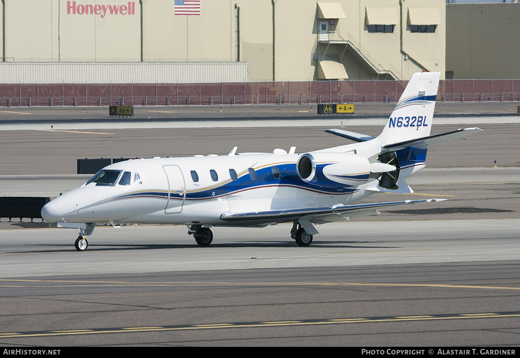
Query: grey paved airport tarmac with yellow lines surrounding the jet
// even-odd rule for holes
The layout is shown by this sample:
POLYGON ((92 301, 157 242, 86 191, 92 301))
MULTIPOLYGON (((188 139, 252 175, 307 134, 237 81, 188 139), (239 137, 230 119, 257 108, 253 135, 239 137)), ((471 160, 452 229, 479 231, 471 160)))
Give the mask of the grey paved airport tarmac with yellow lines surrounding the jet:
MULTIPOLYGON (((124 226, 96 228, 78 253, 73 229, 2 222, 11 230, 0 230, 0 345, 518 346, 517 120, 490 116, 478 123, 483 133, 428 151, 406 198, 450 200, 319 226, 309 247, 295 245, 288 225, 214 228, 209 247, 186 227, 124 226)), ((287 121, 298 125, 0 130, 0 185, 59 195, 88 178, 74 174, 85 156, 346 143, 322 132, 328 123, 287 121)), ((432 134, 476 125, 449 121, 435 121, 432 134)), ((381 126, 347 130, 377 135, 381 126)))

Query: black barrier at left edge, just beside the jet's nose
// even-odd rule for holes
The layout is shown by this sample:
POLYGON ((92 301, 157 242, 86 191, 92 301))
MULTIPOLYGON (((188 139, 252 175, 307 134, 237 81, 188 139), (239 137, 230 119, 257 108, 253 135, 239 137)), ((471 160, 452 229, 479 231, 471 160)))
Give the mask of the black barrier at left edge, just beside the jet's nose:
POLYGON ((2 196, 0 197, 0 218, 42 219, 42 207, 50 202, 49 197, 41 196, 2 196))

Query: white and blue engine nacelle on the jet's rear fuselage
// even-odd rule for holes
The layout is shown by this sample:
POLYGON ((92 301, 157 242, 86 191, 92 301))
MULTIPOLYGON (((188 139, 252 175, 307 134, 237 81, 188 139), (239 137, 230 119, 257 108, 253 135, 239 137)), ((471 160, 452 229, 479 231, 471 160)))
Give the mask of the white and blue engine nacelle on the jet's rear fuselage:
POLYGON ((296 163, 298 176, 318 187, 358 187, 396 167, 354 153, 306 153, 296 163))

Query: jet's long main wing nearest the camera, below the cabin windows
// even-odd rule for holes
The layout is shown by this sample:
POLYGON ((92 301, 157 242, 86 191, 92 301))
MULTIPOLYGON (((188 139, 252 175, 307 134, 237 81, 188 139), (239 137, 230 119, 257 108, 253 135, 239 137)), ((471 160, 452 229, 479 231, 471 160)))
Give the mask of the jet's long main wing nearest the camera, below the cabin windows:
POLYGON ((257 223, 281 223, 294 220, 313 220, 327 216, 353 217, 378 214, 377 209, 388 208, 397 205, 415 203, 433 203, 445 201, 446 199, 424 199, 424 200, 405 200, 401 202, 369 203, 343 205, 337 204, 329 207, 320 208, 301 208, 284 210, 252 211, 250 213, 231 213, 226 211, 220 215, 220 219, 228 222, 255 221, 257 223))

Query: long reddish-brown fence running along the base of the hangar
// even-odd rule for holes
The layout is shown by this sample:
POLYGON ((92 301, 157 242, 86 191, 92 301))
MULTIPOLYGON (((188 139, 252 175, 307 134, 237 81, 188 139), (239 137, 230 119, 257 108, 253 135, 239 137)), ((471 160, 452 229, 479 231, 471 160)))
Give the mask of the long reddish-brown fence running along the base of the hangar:
MULTIPOLYGON (((0 107, 396 102, 407 83, 0 84, 0 107)), ((440 81, 437 101, 520 101, 520 79, 440 81)))

